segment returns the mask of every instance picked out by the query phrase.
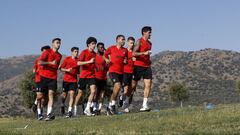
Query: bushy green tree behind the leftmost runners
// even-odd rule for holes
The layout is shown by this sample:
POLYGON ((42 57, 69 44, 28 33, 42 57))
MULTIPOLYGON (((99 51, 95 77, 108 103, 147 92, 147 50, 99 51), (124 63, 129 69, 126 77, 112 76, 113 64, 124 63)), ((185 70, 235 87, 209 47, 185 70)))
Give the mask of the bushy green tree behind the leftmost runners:
POLYGON ((31 108, 36 99, 36 94, 32 90, 35 87, 34 73, 32 70, 24 73, 23 78, 18 82, 17 86, 21 91, 24 106, 31 108))

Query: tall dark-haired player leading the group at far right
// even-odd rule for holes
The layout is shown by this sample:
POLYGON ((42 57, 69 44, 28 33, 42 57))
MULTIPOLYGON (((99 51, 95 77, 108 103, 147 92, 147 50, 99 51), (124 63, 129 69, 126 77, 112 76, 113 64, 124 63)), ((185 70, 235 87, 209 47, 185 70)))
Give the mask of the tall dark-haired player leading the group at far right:
POLYGON ((152 43, 149 41, 152 33, 152 28, 145 26, 142 28, 142 37, 137 41, 133 56, 136 57, 134 62, 134 75, 132 81, 132 88, 135 91, 137 82, 143 78, 144 82, 144 99, 143 105, 140 111, 150 111, 148 107, 147 100, 151 92, 152 86, 152 70, 151 70, 151 61, 150 54, 152 43))

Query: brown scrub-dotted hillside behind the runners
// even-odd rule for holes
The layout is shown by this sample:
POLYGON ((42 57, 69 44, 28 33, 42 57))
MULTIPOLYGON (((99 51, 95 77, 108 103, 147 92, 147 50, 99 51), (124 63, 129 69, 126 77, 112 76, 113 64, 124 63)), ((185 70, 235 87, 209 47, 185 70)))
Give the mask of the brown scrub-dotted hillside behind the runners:
MULTIPOLYGON (((15 110, 11 111, 14 112, 13 114, 25 114, 16 83, 21 78, 21 74, 32 67, 36 57, 22 56, 0 60, 2 62, 0 71, 6 75, 6 77, 0 76, 1 115, 9 114, 8 110, 15 110), (10 72, 12 70, 14 72, 10 72)), ((178 103, 170 101, 169 95, 169 84, 174 81, 185 83, 190 90, 190 98, 184 105, 239 102, 240 98, 235 91, 235 82, 240 76, 239 67, 240 53, 234 51, 204 49, 192 52, 160 52, 152 56, 154 79, 150 105, 153 108, 178 106, 178 103)), ((60 78, 62 78, 61 74, 60 78)), ((142 83, 140 83, 134 96, 134 108, 140 107, 142 95, 142 83)))

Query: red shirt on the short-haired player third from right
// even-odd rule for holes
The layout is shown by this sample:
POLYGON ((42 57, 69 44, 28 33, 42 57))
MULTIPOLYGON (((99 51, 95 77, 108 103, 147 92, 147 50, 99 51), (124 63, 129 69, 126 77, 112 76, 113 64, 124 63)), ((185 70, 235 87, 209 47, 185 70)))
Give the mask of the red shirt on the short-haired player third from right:
POLYGON ((104 56, 109 58, 110 56, 110 64, 109 64, 109 73, 118 73, 123 74, 124 68, 124 59, 127 58, 127 49, 124 47, 117 48, 116 45, 109 47, 104 56))

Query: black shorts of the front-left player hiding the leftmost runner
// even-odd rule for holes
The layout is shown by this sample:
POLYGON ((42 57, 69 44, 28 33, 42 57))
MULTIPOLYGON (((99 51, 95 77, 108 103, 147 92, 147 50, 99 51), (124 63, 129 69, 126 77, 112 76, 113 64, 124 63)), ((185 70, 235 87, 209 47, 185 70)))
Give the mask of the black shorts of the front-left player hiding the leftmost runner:
POLYGON ((57 80, 41 76, 41 90, 42 91, 53 90, 56 92, 57 91, 57 80))

